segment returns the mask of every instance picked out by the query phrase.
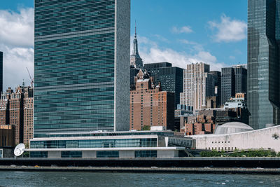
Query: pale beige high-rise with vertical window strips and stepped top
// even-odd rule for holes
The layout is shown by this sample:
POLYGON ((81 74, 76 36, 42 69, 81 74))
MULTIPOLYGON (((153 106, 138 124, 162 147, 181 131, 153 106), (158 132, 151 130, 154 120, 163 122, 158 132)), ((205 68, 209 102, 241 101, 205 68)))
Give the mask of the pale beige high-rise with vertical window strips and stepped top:
POLYGON ((193 111, 206 106, 207 96, 214 96, 214 77, 209 74, 209 64, 187 64, 183 71, 183 92, 180 104, 193 106, 193 111))

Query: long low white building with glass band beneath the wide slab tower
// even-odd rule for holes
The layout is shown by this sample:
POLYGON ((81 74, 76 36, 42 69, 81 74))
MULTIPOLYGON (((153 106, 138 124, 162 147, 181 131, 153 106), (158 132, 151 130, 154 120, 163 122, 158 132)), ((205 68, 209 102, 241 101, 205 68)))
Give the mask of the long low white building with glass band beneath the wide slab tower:
MULTIPOLYGON (((185 147, 168 146, 171 131, 76 132, 30 140, 31 158, 174 158, 185 147)), ((174 142, 176 139, 172 139, 174 142)), ((188 146, 193 141, 186 139, 188 146)))

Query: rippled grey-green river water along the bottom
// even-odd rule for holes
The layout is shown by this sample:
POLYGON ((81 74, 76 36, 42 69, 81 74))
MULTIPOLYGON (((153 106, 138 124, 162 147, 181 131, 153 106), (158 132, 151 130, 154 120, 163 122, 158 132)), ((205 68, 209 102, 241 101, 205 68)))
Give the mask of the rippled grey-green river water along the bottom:
POLYGON ((280 186, 277 175, 0 172, 0 186, 280 186))

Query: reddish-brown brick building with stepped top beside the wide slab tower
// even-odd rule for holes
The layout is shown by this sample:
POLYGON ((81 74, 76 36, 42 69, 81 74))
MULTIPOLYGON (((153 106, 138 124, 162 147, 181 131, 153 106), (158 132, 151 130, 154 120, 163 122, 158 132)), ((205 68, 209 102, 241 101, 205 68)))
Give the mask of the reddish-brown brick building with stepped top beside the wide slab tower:
POLYGON ((174 129, 174 93, 162 92, 146 71, 135 77, 135 90, 130 91, 130 130, 144 130, 151 126, 174 129))

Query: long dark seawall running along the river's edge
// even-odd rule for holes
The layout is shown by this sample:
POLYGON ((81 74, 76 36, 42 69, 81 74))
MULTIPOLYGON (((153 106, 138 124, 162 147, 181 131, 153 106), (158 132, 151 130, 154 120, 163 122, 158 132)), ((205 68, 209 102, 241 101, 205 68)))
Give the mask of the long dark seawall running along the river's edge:
POLYGON ((1 158, 0 166, 279 169, 280 158, 1 158))

